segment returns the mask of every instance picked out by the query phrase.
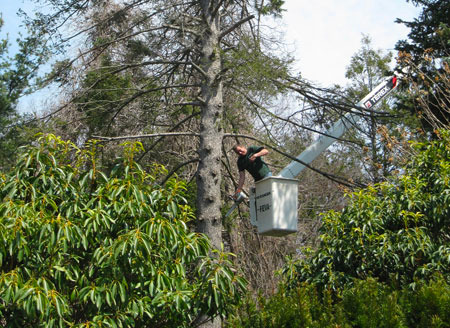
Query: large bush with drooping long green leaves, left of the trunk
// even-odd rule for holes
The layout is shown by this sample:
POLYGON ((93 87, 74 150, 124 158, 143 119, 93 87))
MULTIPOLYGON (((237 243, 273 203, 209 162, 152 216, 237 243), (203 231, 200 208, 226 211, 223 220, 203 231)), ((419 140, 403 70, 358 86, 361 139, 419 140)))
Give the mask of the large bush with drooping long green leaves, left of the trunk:
POLYGON ((188 327, 225 316, 245 281, 190 232, 182 181, 134 162, 107 176, 98 144, 52 135, 0 175, 0 317, 7 327, 188 327), (214 255, 214 256, 212 256, 214 255))

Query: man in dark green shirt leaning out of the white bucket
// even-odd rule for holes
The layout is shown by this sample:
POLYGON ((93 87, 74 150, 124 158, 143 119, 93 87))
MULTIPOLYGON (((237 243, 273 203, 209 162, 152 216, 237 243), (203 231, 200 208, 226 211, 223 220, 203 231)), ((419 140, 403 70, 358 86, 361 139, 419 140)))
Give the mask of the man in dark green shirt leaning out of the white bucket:
POLYGON ((239 182, 235 192, 235 198, 238 197, 245 182, 245 170, 247 170, 256 181, 272 176, 267 164, 262 160, 269 151, 264 147, 250 146, 245 148, 242 145, 235 145, 233 150, 239 155, 237 165, 239 169, 239 182))

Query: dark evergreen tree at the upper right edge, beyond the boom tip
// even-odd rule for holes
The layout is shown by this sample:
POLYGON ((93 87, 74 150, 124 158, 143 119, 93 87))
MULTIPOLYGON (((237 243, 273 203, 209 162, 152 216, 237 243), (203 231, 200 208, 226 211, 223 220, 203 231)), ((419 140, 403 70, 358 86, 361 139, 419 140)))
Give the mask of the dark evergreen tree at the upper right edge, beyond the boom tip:
MULTIPOLYGON (((416 92, 402 100, 401 106, 414 112, 427 131, 448 128, 448 61, 450 58, 450 4, 439 0, 412 0, 422 12, 413 21, 398 19, 410 28, 408 40, 396 44, 396 50, 407 55, 407 66, 416 92), (431 59, 432 58, 432 59, 431 59), (444 77, 442 79, 441 77, 444 77), (426 77, 426 78, 425 78, 426 77), (420 98, 426 95, 426 103, 420 98), (425 106, 424 106, 425 105, 425 106), (426 109, 424 108, 426 107, 426 109)), ((402 65, 404 60, 402 60, 402 65)))

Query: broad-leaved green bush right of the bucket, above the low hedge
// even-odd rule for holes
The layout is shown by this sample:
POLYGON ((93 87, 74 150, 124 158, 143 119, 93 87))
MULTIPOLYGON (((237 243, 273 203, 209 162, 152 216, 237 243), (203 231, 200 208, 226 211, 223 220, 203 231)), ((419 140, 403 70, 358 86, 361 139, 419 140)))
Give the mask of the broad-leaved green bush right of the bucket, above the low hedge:
POLYGON ((292 283, 337 289, 376 277, 415 288, 436 272, 450 274, 450 133, 417 144, 402 176, 354 192, 342 212, 323 216, 317 251, 286 267, 292 283))

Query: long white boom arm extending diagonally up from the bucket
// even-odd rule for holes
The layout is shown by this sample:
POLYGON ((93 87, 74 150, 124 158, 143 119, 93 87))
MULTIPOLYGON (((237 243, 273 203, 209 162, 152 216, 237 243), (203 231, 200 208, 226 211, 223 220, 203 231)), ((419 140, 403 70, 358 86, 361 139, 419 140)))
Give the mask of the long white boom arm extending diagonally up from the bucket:
MULTIPOLYGON (((372 92, 358 102, 357 107, 363 107, 366 109, 371 108, 392 90, 394 90, 397 87, 397 82, 398 79, 396 75, 385 79, 375 89, 373 89, 372 92)), ((297 175, 299 175, 305 168, 305 165, 300 162, 310 164, 317 156, 319 156, 325 149, 335 142, 336 138, 342 136, 345 131, 358 122, 360 118, 358 112, 359 109, 355 108, 352 112, 347 113, 343 118, 334 123, 334 125, 324 135, 317 138, 316 141, 314 141, 308 148, 297 156, 299 162, 292 161, 279 173, 279 176, 294 179, 297 175)))

